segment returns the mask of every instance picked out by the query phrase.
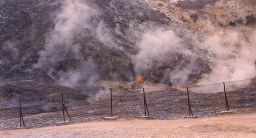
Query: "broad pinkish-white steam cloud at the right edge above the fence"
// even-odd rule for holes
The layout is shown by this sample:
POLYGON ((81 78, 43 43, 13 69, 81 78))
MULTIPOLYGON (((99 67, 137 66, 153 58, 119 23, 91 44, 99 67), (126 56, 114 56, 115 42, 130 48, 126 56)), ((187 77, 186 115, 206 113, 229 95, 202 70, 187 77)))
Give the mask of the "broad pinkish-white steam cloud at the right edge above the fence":
POLYGON ((202 46, 208 50, 210 62, 215 62, 216 65, 212 66, 210 74, 204 74, 200 84, 250 79, 256 76, 256 32, 252 31, 249 36, 248 34, 229 30, 209 36, 202 46))

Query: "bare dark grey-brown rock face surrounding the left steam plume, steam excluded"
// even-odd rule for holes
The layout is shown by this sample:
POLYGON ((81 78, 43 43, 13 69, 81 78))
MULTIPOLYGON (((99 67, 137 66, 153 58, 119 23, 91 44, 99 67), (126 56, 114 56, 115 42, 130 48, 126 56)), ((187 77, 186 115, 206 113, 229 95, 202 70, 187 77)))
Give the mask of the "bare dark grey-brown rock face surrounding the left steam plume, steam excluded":
MULTIPOLYGON (((130 55, 137 53, 137 48, 134 46, 136 42, 147 30, 166 27, 171 22, 171 19, 164 13, 158 9, 152 9, 152 3, 147 1, 77 1, 76 4, 85 3, 84 5, 90 7, 89 9, 94 9, 99 13, 94 23, 102 22, 101 27, 107 29, 107 35, 111 37, 113 43, 101 41, 101 38, 95 36, 97 30, 92 32, 93 27, 84 28, 70 43, 70 45, 80 45, 82 54, 79 56, 83 56, 82 59, 75 57, 76 54, 70 50, 66 50, 63 51, 66 54, 58 59, 55 58, 55 62, 46 60, 39 68, 34 68, 40 58, 45 58, 42 54, 40 55, 40 52, 47 53, 48 39, 55 39, 49 36, 56 33, 52 31, 58 24, 56 18, 59 13, 65 12, 63 9, 65 10, 66 5, 69 5, 67 3, 58 0, 44 2, 8 0, 1 3, 2 79, 17 80, 32 77, 41 81, 55 81, 61 77, 58 76, 60 71, 77 70, 83 61, 90 59, 95 64, 94 74, 98 74, 98 79, 130 80, 135 76, 130 55), (19 8, 14 9, 17 5, 19 8), (21 68, 26 74, 9 64, 21 68), (48 67, 49 65, 51 67, 48 67)), ((57 47, 61 44, 56 43, 52 46, 57 47)), ((47 58, 54 54, 56 53, 49 53, 47 58)))

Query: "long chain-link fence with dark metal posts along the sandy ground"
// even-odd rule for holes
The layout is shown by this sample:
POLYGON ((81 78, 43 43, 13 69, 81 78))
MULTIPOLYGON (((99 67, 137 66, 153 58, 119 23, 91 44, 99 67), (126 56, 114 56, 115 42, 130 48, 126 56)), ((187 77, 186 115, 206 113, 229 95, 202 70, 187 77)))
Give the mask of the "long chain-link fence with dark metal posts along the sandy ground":
POLYGON ((98 89, 63 94, 63 100, 61 95, 17 97, 1 102, 0 130, 23 126, 21 114, 25 126, 42 127, 63 121, 63 116, 66 120, 70 116, 78 123, 102 120, 112 114, 126 119, 148 114, 157 119, 170 119, 189 114, 214 116, 227 108, 256 108, 256 79, 189 88, 98 89))

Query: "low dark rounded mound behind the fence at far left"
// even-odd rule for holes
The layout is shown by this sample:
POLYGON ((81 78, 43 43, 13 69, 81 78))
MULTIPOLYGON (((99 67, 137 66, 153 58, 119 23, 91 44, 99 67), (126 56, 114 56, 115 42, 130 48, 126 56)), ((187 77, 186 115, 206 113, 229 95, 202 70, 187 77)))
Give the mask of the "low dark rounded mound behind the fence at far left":
POLYGON ((2 83, 0 86, 0 94, 0 104, 10 101, 17 102, 20 99, 23 100, 23 102, 35 102, 40 100, 56 102, 61 101, 61 94, 66 96, 67 100, 84 100, 85 102, 88 97, 74 88, 60 85, 47 85, 32 80, 2 83))

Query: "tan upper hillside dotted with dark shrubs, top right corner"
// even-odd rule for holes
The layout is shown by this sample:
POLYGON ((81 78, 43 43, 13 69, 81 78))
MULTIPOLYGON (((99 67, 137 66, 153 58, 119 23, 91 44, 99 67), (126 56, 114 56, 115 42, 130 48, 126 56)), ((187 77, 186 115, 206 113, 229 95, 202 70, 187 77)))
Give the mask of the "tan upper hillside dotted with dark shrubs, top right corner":
POLYGON ((154 3, 174 13, 190 27, 204 32, 231 27, 239 29, 256 23, 254 0, 156 0, 154 3))

